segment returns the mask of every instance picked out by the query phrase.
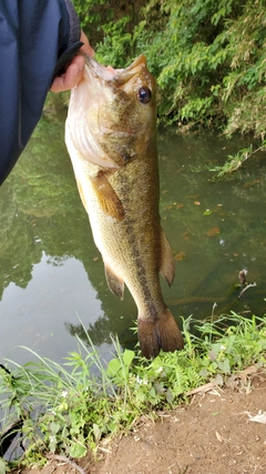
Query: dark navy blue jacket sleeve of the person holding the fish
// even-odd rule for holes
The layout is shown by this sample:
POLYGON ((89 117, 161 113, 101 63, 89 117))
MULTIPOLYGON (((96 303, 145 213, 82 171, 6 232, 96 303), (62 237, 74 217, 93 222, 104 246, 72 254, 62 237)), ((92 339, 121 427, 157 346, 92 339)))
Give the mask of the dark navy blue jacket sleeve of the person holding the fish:
POLYGON ((82 43, 70 0, 0 1, 0 184, 42 113, 54 75, 82 43))

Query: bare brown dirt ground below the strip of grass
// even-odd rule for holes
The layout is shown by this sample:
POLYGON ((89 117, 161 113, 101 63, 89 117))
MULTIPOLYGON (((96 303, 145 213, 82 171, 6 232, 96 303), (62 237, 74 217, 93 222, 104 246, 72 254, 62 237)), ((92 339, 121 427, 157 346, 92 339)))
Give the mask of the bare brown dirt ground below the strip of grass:
POLYGON ((51 460, 20 474, 266 474, 266 371, 202 387, 191 404, 103 442, 100 461, 51 460), (252 417, 255 420, 252 420, 252 417))

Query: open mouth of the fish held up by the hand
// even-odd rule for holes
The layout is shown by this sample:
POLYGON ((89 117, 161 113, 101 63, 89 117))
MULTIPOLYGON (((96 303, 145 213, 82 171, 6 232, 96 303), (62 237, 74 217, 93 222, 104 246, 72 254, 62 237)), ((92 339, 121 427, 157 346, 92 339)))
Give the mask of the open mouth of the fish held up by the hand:
POLYGON ((93 58, 85 54, 85 64, 89 71, 103 81, 113 82, 116 85, 122 85, 133 78, 142 69, 146 69, 146 58, 144 54, 139 56, 132 64, 125 69, 113 69, 96 62, 93 58))

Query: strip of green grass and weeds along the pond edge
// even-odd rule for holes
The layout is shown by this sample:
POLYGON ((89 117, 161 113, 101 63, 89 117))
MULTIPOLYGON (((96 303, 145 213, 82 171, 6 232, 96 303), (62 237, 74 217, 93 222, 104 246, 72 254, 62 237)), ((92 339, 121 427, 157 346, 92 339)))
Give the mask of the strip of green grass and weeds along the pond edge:
POLYGON ((104 436, 131 430, 141 415, 186 403, 191 390, 211 381, 223 384, 236 371, 266 364, 265 316, 247 320, 232 313, 213 320, 186 320, 185 349, 153 361, 122 351, 113 339, 115 354, 104 364, 88 333, 88 345, 78 337, 79 351, 62 365, 27 347, 37 362, 6 360, 10 373, 0 367, 1 425, 4 430, 22 420, 19 442, 24 448, 19 460, 4 461, 6 467, 44 464, 45 453, 82 457, 89 448, 96 451, 104 436))

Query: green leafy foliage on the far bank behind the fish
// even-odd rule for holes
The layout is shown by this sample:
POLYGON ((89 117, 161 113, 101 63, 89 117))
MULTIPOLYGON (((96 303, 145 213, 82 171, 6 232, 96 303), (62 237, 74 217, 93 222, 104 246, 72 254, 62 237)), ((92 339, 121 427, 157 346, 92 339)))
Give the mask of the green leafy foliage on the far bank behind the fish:
POLYGON ((124 68, 144 53, 161 123, 264 140, 264 0, 74 0, 96 59, 124 68))

